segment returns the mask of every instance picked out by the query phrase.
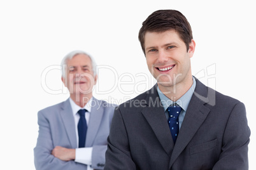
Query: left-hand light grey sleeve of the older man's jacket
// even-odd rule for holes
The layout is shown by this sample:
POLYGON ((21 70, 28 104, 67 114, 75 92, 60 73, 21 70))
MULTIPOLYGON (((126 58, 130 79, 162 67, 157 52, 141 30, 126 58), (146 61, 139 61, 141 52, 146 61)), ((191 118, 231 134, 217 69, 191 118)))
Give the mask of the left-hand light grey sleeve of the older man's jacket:
POLYGON ((37 170, 64 170, 72 169, 77 164, 75 161, 62 161, 54 157, 52 134, 50 124, 42 112, 38 112, 38 141, 34 148, 34 164, 37 170))

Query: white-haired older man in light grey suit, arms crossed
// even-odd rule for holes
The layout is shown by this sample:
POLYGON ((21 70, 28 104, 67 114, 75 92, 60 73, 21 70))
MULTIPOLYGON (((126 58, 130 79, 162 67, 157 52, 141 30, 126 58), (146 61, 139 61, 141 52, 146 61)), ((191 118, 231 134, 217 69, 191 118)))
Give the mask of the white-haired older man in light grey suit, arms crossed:
POLYGON ((92 56, 72 51, 61 65, 61 79, 70 98, 38 112, 36 169, 103 169, 116 106, 92 96, 97 81, 92 56))

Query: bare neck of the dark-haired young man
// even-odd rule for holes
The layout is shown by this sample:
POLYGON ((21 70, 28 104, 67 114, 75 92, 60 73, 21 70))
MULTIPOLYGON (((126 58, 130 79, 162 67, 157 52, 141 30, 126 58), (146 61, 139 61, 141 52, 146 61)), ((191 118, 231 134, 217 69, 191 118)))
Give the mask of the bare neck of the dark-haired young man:
POLYGON ((193 79, 187 79, 187 81, 182 81, 180 83, 174 84, 173 86, 162 86, 157 83, 160 91, 167 96, 172 101, 177 101, 181 98, 181 96, 185 95, 185 93, 190 89, 193 84, 193 79))

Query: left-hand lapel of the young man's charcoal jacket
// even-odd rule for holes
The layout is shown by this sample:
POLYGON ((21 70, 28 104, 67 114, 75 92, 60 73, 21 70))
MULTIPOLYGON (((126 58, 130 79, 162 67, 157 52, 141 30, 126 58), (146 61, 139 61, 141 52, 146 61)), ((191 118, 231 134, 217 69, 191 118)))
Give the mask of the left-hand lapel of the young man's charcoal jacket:
POLYGON ((159 95, 157 93, 157 86, 153 86, 148 95, 146 96, 146 105, 148 107, 141 110, 146 121, 150 124, 155 136, 160 141, 160 144, 166 151, 167 155, 171 157, 173 151, 173 139, 171 138, 171 132, 167 124, 166 115, 164 114, 164 108, 160 102, 159 95))

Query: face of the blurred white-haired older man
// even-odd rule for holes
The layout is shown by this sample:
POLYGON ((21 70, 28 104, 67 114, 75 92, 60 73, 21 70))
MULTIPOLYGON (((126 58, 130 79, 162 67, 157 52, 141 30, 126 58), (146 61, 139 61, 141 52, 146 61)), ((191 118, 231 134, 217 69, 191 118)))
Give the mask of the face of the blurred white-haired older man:
POLYGON ((97 75, 94 76, 89 56, 79 54, 67 61, 66 79, 62 77, 62 82, 70 94, 92 93, 96 81, 97 75))

